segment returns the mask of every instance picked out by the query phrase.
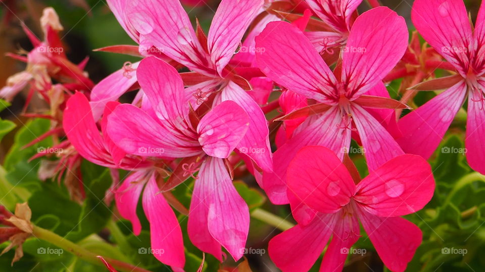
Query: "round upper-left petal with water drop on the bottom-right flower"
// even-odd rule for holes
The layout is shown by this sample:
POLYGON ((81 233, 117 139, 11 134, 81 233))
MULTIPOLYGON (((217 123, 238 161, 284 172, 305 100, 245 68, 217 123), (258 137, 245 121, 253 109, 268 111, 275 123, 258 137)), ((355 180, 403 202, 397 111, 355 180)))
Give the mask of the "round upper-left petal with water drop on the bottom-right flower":
POLYGON ((342 161, 329 149, 307 146, 298 151, 286 171, 288 190, 308 207, 335 213, 355 193, 355 184, 342 161))

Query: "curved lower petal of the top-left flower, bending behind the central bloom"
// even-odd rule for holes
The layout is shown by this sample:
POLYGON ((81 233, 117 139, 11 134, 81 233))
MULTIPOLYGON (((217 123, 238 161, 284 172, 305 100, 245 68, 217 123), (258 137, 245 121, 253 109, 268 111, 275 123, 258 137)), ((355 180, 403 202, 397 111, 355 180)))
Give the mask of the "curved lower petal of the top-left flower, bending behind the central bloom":
POLYGON ((249 128, 244 138, 237 145, 241 153, 250 156, 265 171, 273 169, 272 153, 269 145, 268 121, 258 103, 237 84, 229 82, 222 90, 223 101, 234 101, 249 116, 249 128))

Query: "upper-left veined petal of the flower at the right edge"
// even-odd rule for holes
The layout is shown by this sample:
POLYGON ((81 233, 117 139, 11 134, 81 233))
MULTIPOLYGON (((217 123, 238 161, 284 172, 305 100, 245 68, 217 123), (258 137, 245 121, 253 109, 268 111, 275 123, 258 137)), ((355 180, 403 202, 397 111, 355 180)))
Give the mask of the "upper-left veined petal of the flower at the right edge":
POLYGON ((472 34, 462 0, 416 0, 411 18, 421 36, 462 76, 468 72, 472 34))

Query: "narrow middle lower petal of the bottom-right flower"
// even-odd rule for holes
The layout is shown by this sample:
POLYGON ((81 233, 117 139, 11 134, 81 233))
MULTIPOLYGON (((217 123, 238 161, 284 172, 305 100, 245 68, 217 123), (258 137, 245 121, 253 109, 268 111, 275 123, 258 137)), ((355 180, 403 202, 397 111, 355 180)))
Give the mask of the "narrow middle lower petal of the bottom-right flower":
POLYGON ((346 213, 347 211, 341 210, 335 215, 342 220, 335 222, 332 239, 323 255, 319 272, 342 271, 351 247, 359 240, 359 221, 356 216, 349 216, 346 213))

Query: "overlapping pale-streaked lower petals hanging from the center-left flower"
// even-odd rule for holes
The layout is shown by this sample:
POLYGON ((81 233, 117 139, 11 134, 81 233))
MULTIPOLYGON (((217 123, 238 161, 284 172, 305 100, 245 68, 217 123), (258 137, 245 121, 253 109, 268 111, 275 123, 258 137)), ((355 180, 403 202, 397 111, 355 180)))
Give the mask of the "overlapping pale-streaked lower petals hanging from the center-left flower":
POLYGON ((248 206, 232 185, 223 160, 209 157, 199 173, 190 203, 190 240, 220 259, 217 241, 238 260, 248 237, 248 206))

